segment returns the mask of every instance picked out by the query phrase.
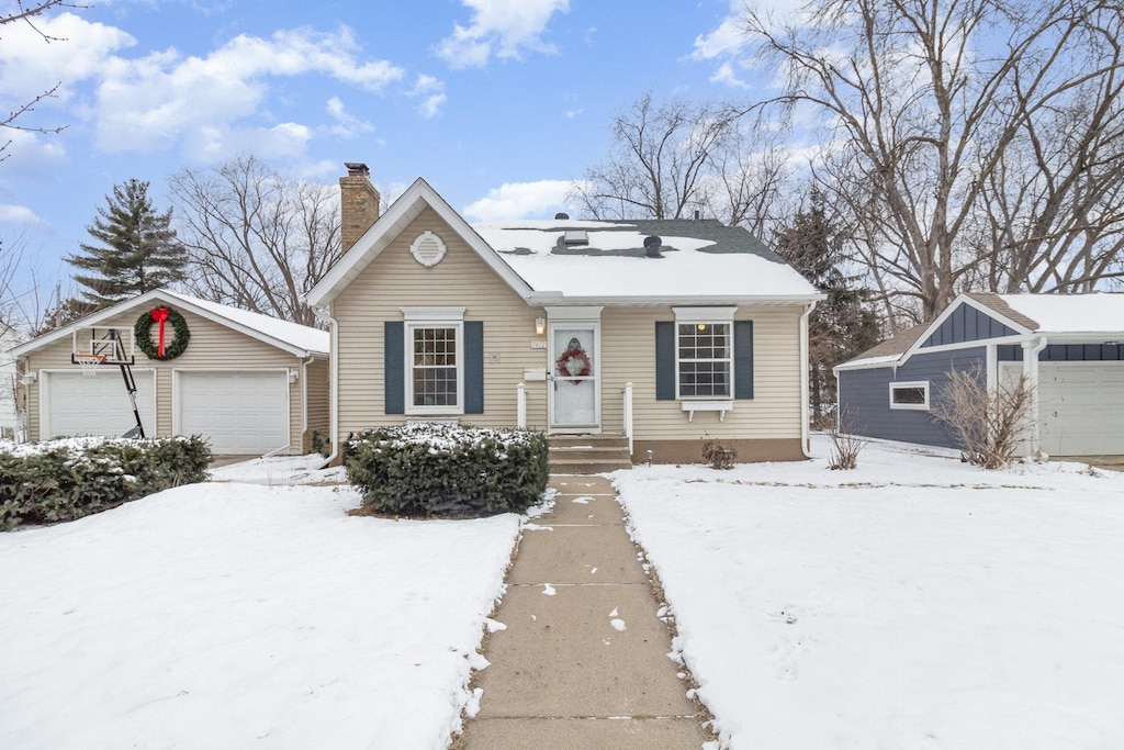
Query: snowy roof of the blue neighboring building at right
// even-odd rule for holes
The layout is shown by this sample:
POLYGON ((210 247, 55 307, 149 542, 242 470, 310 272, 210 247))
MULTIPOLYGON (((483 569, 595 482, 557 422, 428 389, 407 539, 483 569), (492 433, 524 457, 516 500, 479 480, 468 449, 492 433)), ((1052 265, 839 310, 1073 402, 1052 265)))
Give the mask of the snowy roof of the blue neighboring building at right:
POLYGON ((907 331, 868 349, 840 365, 842 370, 901 363, 916 351, 932 332, 959 305, 968 304, 1008 323, 1022 335, 1042 334, 1080 337, 1085 334, 1124 337, 1124 295, 1094 292, 1088 295, 999 295, 966 292, 928 323, 907 331))

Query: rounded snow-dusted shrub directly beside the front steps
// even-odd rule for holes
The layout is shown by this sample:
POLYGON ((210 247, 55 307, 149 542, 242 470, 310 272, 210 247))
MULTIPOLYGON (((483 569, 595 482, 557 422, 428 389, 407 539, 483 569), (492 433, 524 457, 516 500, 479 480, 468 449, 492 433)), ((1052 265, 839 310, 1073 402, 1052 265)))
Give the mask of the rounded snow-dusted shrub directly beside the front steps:
POLYGON ((350 437, 344 466, 373 510, 478 517, 523 513, 538 501, 546 457, 538 432, 423 424, 350 437))

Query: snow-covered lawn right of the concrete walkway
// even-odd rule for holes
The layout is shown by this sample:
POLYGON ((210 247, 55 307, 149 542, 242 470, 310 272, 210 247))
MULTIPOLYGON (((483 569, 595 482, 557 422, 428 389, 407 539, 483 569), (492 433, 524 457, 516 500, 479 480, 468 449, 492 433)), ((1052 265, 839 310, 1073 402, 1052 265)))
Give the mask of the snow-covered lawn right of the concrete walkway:
POLYGON ((1124 748, 1124 475, 814 448, 614 475, 729 748, 1124 748))

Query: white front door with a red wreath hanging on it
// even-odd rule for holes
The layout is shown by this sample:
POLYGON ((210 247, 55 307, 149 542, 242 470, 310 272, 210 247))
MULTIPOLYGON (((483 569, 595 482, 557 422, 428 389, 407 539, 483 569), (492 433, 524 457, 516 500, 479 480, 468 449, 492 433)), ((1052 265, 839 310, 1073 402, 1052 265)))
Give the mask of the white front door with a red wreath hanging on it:
POLYGON ((598 432, 600 415, 600 336, 598 323, 551 324, 551 430, 598 432))

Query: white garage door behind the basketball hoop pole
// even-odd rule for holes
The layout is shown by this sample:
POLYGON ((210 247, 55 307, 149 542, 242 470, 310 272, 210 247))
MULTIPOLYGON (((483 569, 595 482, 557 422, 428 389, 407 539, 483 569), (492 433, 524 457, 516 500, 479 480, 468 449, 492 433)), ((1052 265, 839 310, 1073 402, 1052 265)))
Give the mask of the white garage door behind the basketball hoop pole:
MULTIPOLYGON (((152 370, 133 370, 137 385, 137 408, 147 436, 156 434, 156 403, 152 370)), ((125 379, 118 368, 101 368, 97 376, 81 372, 43 374, 44 437, 61 435, 108 435, 119 437, 136 426, 125 379)))

